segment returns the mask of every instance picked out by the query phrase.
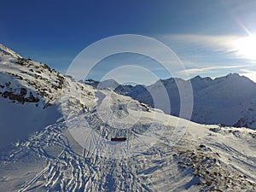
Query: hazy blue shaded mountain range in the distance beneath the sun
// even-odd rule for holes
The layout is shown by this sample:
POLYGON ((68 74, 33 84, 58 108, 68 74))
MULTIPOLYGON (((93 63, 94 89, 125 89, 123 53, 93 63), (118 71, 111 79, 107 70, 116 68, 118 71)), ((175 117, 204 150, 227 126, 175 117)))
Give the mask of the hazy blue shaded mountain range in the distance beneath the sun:
MULTIPOLYGON (((200 76, 189 80, 171 78, 159 80, 149 86, 119 85, 116 92, 154 107, 150 92, 159 92, 160 84, 164 84, 171 102, 171 113, 166 113, 179 116, 180 96, 177 83, 192 84, 194 96, 192 121, 256 129, 256 84, 237 73, 230 73, 217 79, 200 76)), ((165 105, 162 106, 161 109, 164 110, 165 105)))

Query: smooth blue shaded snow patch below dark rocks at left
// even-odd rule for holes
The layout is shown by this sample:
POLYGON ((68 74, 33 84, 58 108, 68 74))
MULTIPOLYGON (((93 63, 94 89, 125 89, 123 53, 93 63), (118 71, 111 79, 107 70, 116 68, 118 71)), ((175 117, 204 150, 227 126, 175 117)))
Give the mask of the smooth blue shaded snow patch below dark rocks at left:
POLYGON ((56 106, 42 109, 32 104, 17 105, 0 97, 0 148, 28 137, 44 126, 54 124, 61 114, 56 106))

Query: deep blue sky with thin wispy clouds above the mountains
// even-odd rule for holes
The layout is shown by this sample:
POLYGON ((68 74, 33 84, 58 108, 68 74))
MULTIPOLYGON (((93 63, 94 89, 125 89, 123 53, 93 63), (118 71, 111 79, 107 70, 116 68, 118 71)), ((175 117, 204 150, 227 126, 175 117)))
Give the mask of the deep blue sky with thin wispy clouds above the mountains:
MULTIPOLYGON (((90 44, 114 35, 139 34, 163 42, 180 58, 184 69, 173 69, 172 76, 241 73, 256 81, 255 9, 256 1, 249 0, 10 0, 1 2, 0 43, 66 73, 90 44)), ((148 68, 157 78, 169 78, 157 62, 136 54, 109 56, 91 76, 102 79, 122 65, 148 68)), ((139 67, 116 71, 122 74, 119 81, 154 81, 139 67)))

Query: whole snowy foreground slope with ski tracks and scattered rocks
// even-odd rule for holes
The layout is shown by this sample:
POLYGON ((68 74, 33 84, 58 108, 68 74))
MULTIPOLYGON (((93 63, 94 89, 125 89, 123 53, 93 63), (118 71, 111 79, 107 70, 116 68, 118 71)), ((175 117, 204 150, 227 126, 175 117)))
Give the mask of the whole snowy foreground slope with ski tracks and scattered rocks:
POLYGON ((15 140, 0 191, 256 191, 256 131, 167 115, 2 45, 0 73, 0 137, 15 140))

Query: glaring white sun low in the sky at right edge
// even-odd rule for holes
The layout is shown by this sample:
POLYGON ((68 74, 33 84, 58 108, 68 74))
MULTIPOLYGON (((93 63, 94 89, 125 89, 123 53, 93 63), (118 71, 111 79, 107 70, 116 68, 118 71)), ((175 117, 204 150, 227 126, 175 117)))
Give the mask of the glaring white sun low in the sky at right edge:
POLYGON ((256 35, 237 39, 235 46, 239 55, 249 60, 256 60, 256 35))

